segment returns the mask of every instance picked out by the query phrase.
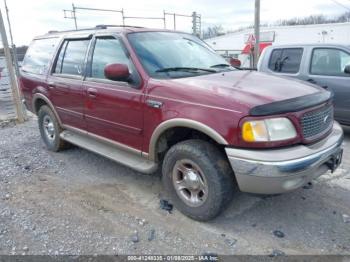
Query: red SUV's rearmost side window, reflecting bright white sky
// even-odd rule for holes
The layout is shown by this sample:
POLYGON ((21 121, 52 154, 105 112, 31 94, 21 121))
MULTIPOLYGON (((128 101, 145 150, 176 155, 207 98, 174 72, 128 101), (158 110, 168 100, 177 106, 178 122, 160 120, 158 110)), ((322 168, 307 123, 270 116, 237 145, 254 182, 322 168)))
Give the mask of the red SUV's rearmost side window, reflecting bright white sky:
POLYGON ((46 74, 57 42, 57 38, 34 40, 24 57, 22 70, 33 74, 46 74))

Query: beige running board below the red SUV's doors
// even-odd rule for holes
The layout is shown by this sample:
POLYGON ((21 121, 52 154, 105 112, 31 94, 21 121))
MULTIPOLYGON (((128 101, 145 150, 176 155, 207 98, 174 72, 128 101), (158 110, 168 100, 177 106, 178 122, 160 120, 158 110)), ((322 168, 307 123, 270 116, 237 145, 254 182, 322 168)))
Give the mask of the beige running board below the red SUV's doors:
POLYGON ((60 134, 60 137, 69 143, 102 155, 141 173, 150 174, 157 169, 157 164, 142 157, 141 153, 138 155, 132 152, 127 152, 124 149, 118 148, 117 145, 99 141, 90 137, 88 134, 64 130, 60 134))

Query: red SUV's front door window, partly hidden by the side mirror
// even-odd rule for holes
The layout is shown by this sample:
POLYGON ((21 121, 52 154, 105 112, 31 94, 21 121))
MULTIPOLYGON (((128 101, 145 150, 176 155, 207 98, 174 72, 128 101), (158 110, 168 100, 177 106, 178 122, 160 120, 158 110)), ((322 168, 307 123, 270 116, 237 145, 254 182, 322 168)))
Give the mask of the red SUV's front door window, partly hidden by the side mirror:
POLYGON ((91 77, 105 78, 104 68, 108 64, 126 64, 131 73, 133 71, 130 59, 118 39, 113 37, 97 38, 92 56, 91 77))

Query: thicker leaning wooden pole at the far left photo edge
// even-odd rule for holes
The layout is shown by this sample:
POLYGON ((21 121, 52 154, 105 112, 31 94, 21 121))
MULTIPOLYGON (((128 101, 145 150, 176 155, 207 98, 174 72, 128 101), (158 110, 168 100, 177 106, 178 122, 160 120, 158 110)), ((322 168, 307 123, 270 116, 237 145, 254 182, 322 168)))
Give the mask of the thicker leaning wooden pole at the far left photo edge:
POLYGON ((5 29, 4 20, 2 18, 1 10, 0 10, 0 34, 1 34, 2 44, 4 46, 6 67, 10 77, 10 84, 11 84, 13 100, 16 107, 17 120, 18 122, 23 123, 25 121, 25 111, 23 110, 23 106, 21 103, 21 96, 18 88, 15 71, 13 70, 12 56, 11 56, 9 44, 7 41, 6 29, 5 29))

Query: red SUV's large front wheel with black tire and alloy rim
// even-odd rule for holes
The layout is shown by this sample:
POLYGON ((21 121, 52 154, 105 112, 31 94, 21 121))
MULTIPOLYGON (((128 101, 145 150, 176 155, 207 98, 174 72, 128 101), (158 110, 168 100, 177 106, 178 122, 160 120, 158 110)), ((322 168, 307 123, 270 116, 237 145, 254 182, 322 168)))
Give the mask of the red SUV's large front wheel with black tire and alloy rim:
POLYGON ((174 206, 199 221, 218 216, 235 190, 234 174, 225 155, 203 140, 187 140, 171 147, 164 157, 162 173, 174 206))

